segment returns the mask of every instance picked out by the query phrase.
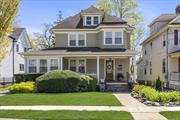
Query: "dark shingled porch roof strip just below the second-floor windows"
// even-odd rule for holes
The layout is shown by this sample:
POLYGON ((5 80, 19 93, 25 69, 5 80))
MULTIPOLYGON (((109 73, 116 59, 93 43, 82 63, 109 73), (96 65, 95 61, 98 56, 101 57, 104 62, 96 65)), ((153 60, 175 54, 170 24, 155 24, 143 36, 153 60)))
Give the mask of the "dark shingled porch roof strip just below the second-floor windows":
POLYGON ((125 52, 124 48, 99 48, 99 47, 54 47, 42 51, 65 50, 66 52, 125 52))

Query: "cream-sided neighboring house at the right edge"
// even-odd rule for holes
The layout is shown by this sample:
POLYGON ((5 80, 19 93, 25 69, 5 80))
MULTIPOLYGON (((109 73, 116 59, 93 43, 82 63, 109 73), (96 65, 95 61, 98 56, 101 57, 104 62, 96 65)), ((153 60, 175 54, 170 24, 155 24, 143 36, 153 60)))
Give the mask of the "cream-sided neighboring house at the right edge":
POLYGON ((160 76, 164 86, 180 89, 180 5, 174 14, 162 14, 149 25, 142 45, 138 80, 153 84, 160 76))

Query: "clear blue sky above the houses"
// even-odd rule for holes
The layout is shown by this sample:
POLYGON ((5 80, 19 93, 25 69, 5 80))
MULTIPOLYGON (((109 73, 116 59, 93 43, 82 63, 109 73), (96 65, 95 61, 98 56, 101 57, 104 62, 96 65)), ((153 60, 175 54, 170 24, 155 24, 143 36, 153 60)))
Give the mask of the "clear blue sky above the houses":
MULTIPOLYGON (((180 0, 137 0, 147 26, 162 13, 175 13, 180 0)), ((90 5, 97 5, 97 0, 23 0, 20 5, 18 24, 25 27, 30 35, 41 32, 44 23, 52 23, 57 13, 62 11, 63 17, 72 16, 90 5)))

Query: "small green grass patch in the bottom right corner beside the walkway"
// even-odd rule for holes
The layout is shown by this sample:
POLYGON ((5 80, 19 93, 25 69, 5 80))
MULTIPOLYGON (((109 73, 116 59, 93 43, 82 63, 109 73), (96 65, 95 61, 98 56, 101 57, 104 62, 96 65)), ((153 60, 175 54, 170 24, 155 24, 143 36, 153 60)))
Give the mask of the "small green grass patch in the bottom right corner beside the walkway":
POLYGON ((163 111, 160 114, 168 120, 180 120, 180 111, 163 111))

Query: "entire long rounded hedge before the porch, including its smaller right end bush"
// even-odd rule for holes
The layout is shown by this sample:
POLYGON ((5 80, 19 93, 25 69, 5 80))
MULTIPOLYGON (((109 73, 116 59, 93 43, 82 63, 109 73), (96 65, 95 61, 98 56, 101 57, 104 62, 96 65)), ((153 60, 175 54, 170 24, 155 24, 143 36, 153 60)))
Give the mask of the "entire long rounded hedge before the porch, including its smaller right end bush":
POLYGON ((69 70, 54 70, 36 78, 38 92, 67 93, 96 90, 96 79, 69 70))

